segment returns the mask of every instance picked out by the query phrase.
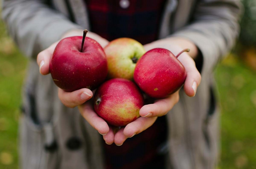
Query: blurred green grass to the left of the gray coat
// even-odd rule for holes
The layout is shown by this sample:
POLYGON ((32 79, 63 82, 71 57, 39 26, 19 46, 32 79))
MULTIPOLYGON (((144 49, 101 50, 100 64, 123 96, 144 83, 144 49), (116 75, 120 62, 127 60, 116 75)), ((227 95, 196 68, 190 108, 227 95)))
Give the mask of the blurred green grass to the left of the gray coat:
POLYGON ((18 117, 27 59, 0 20, 0 168, 18 168, 18 117))

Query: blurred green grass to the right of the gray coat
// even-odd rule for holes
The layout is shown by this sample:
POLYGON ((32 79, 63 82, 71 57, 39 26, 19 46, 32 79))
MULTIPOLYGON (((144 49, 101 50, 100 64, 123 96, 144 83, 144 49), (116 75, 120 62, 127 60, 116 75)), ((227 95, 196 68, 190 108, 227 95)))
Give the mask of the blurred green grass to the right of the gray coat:
POLYGON ((219 166, 256 168, 256 73, 229 55, 217 67, 215 78, 222 112, 219 166))

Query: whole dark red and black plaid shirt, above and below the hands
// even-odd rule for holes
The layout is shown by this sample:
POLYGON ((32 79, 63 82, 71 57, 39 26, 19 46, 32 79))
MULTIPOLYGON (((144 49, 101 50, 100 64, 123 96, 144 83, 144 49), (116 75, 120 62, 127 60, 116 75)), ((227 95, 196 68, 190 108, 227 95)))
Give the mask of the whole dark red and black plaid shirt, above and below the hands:
MULTIPOLYGON (((120 0, 85 1, 91 31, 101 37, 109 41, 128 37, 142 44, 157 40, 165 0, 125 0, 129 1, 126 8, 121 7, 120 0)), ((128 138, 120 147, 104 142, 106 168, 164 168, 159 147, 167 139, 166 130, 165 117, 159 117, 153 126, 128 138)))

